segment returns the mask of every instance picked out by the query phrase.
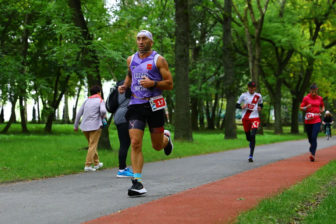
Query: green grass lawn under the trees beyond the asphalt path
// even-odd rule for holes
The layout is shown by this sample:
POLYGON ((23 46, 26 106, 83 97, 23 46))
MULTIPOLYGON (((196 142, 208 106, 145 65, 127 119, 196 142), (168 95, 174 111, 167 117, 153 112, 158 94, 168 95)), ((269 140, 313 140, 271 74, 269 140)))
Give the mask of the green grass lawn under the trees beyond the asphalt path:
MULTIPOLYGON (((0 130, 4 128, 0 124, 0 130)), ((32 180, 34 178, 54 177, 82 172, 84 169, 87 141, 84 134, 73 131, 73 125, 53 125, 53 134, 44 135, 44 125, 28 124, 31 134, 21 134, 20 124, 12 124, 8 134, 0 135, 0 183, 32 180)), ((303 127, 300 127, 302 132, 303 127)), ((193 133, 194 142, 174 141, 174 151, 166 156, 163 151, 152 149, 150 133, 145 130, 143 138, 144 162, 155 162, 185 156, 206 154, 248 147, 242 126, 238 126, 238 139, 223 140, 223 130, 201 130, 193 133)), ((284 128, 284 135, 273 135, 273 131, 265 130, 264 135, 257 135, 257 145, 290 141, 306 138, 305 133, 289 134, 290 128, 284 128)), ((172 135, 174 135, 172 133, 172 135)), ((113 151, 98 149, 99 160, 104 163, 103 168, 118 167, 119 140, 117 130, 112 124, 110 140, 113 151)), ((258 148, 256 148, 258 150, 258 148)), ((130 150, 127 164, 130 165, 130 150)), ((248 156, 249 150, 246 150, 248 156)))

